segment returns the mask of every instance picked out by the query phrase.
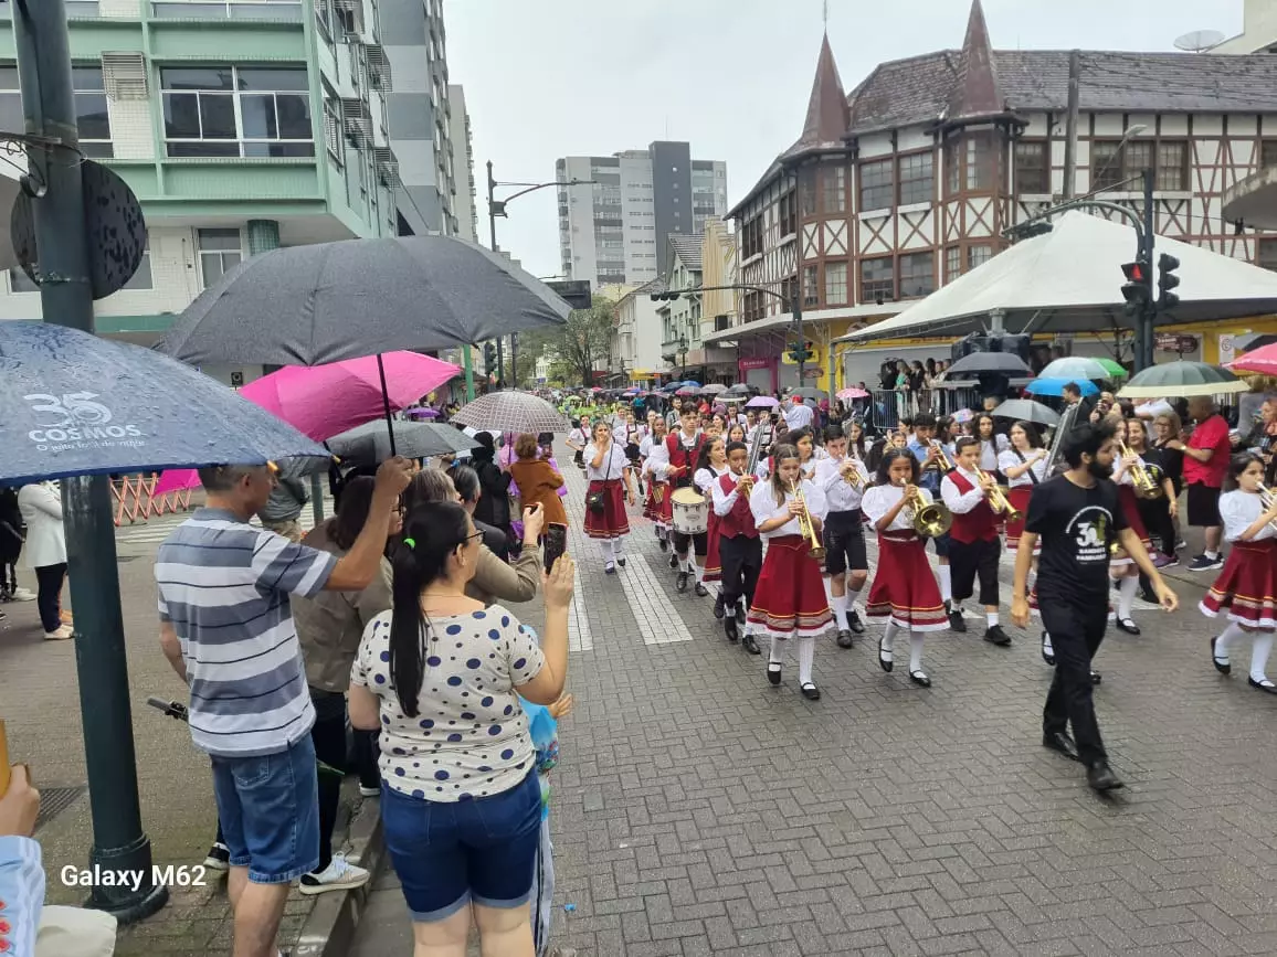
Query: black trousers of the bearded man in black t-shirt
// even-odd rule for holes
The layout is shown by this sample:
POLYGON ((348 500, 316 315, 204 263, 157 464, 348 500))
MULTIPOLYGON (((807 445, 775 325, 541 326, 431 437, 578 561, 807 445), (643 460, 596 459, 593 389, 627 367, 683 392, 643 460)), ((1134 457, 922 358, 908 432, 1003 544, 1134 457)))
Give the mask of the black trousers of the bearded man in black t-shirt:
POLYGON ((1091 661, 1108 624, 1107 596, 1065 602, 1039 593, 1038 609, 1055 649, 1055 678, 1042 709, 1042 731, 1066 731, 1073 725, 1082 763, 1091 767, 1107 760, 1091 685, 1091 661))

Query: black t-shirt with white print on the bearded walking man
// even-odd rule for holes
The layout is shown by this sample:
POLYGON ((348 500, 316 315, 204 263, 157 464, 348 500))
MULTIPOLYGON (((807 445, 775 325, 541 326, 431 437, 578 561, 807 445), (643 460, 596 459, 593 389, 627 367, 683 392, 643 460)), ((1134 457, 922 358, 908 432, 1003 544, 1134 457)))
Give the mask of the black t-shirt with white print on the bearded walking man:
POLYGON ((1117 486, 1098 480, 1091 489, 1062 475, 1033 489, 1024 531, 1042 542, 1038 598, 1108 605, 1108 542, 1126 528, 1117 486))

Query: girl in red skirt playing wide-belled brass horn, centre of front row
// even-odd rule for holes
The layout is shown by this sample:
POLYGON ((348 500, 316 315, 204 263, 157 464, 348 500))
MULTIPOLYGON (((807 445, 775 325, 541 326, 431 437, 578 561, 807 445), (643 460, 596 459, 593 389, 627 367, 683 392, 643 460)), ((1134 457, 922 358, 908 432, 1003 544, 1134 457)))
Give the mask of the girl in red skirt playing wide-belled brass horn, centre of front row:
POLYGON ((949 628, 949 615, 927 561, 927 542, 913 531, 917 501, 931 504, 931 493, 918 487, 918 459, 908 449, 888 449, 875 485, 861 501, 861 510, 879 533, 879 564, 865 614, 886 621, 879 639, 882 670, 895 665, 896 632, 908 632, 909 680, 930 688, 931 679, 922 670, 922 635, 949 628))

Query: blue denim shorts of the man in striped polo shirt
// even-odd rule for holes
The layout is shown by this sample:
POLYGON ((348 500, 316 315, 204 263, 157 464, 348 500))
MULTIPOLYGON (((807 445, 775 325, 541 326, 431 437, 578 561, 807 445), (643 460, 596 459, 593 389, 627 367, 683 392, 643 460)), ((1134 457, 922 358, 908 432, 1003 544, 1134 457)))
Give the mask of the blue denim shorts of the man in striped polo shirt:
POLYGON ((285 884, 319 866, 319 776, 305 735, 285 752, 213 758, 213 795, 232 868, 285 884))

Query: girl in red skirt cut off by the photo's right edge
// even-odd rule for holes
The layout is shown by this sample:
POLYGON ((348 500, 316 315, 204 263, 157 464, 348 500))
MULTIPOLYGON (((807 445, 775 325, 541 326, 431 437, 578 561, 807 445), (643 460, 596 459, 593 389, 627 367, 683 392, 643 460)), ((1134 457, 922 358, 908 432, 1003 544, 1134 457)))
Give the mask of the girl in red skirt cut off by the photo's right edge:
POLYGON ((1220 517, 1232 549, 1198 607, 1209 618, 1221 611, 1228 615, 1228 627, 1211 639, 1216 670, 1232 670, 1228 646, 1249 634, 1250 686, 1277 694, 1277 684, 1267 674, 1277 630, 1277 498, 1264 508, 1259 493, 1263 478, 1264 462, 1258 456, 1243 453, 1228 463, 1228 485, 1234 487, 1220 496, 1220 517))

